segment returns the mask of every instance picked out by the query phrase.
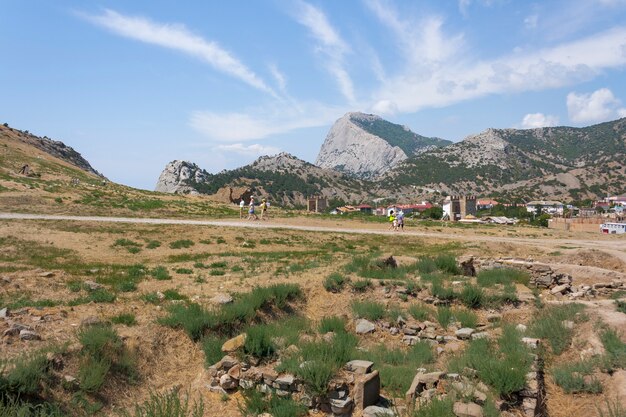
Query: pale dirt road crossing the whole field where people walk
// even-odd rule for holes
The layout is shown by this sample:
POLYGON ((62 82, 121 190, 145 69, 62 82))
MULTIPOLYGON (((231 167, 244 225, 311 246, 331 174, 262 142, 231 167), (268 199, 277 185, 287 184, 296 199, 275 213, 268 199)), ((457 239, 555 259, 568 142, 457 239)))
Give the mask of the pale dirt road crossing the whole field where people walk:
POLYGON ((76 222, 107 222, 107 223, 139 223, 139 224, 176 224, 176 225, 197 225, 197 226, 222 226, 222 227, 243 227, 253 229, 290 229, 302 230, 310 232, 334 232, 334 233, 350 233, 350 234, 376 234, 376 235, 399 235, 400 233, 409 236, 432 237, 437 239, 453 239, 464 241, 487 241, 527 244, 533 246, 544 246, 545 248, 555 248, 563 245, 573 245, 586 249, 597 249, 610 252, 613 256, 618 257, 626 262, 626 239, 613 239, 607 241, 605 239, 579 239, 579 238, 527 238, 527 237, 505 237, 505 236, 484 236, 474 233, 466 233, 458 231, 454 233, 452 230, 448 232, 430 232, 407 230, 405 232, 394 232, 387 229, 387 225, 367 225, 363 228, 353 227, 331 227, 319 225, 294 225, 288 223, 279 223, 280 219, 271 222, 249 222, 241 220, 184 220, 184 219, 156 219, 156 218, 136 218, 136 217, 100 217, 100 216, 65 216, 65 215, 48 215, 48 214, 25 214, 25 213, 0 213, 0 220, 64 220, 76 222), (378 227, 378 228, 377 228, 378 227))

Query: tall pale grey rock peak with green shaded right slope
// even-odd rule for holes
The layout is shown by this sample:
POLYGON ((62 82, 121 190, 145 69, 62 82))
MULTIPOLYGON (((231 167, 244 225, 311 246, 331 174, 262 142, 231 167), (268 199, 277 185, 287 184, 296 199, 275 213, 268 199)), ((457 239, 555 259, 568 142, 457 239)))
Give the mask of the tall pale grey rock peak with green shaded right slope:
POLYGON ((420 136, 373 114, 347 113, 331 127, 315 164, 373 179, 410 156, 450 143, 420 136))

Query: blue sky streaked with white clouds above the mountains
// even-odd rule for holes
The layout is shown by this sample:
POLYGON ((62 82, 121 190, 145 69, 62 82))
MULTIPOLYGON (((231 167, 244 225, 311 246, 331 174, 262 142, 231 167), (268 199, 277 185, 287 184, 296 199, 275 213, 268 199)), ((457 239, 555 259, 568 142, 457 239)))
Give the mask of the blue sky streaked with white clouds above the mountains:
POLYGON ((0 0, 0 123, 154 189, 346 112, 454 142, 626 117, 626 0, 0 0))

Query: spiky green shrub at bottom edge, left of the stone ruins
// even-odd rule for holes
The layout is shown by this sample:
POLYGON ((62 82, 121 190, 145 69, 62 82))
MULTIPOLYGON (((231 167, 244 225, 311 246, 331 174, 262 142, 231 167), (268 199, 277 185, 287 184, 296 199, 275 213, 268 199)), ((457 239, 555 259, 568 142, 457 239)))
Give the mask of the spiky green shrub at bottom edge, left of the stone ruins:
POLYGON ((123 412, 123 417, 202 417, 204 403, 189 403, 189 395, 180 398, 177 392, 150 393, 150 399, 136 405, 133 413, 123 412))

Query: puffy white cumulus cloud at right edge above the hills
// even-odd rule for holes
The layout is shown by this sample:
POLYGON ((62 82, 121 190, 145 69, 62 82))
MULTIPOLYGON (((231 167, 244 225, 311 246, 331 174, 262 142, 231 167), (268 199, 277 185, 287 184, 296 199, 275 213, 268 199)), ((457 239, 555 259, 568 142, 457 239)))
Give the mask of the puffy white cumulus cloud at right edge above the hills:
POLYGON ((601 88, 591 94, 567 95, 567 112, 575 123, 596 123, 623 117, 626 109, 608 88, 601 88))

